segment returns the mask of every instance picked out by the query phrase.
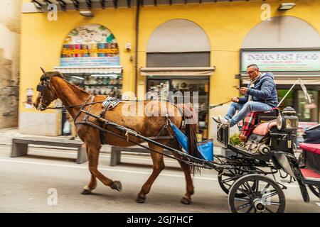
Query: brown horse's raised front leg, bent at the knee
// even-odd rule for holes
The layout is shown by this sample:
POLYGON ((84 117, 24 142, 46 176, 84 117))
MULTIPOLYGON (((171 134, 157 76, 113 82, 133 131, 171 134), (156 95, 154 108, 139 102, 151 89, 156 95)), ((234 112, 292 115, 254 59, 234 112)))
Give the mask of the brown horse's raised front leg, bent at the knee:
MULTIPOLYGON (((100 153, 100 147, 89 147, 88 148, 88 161, 89 161, 89 170, 93 177, 97 177, 97 179, 100 180, 103 184, 106 186, 111 187, 112 189, 116 189, 117 191, 121 192, 122 190, 122 184, 119 181, 113 181, 112 179, 109 179, 105 177, 105 175, 102 175, 102 173, 97 170, 97 165, 99 161, 99 153, 100 153)), ((95 180, 95 179, 94 179, 95 180)))

